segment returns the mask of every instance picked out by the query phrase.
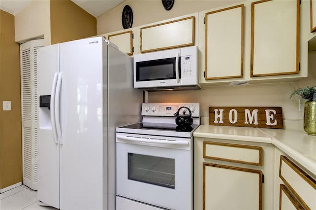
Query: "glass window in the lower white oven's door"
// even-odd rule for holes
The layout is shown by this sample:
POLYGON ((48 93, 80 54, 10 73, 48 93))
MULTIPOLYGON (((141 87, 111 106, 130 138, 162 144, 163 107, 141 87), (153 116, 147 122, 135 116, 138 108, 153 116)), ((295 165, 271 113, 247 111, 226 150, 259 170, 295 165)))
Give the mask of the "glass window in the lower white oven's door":
POLYGON ((128 179, 174 189, 174 159, 128 153, 128 179))

